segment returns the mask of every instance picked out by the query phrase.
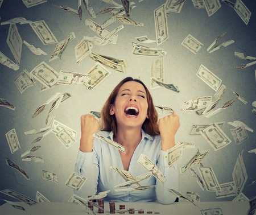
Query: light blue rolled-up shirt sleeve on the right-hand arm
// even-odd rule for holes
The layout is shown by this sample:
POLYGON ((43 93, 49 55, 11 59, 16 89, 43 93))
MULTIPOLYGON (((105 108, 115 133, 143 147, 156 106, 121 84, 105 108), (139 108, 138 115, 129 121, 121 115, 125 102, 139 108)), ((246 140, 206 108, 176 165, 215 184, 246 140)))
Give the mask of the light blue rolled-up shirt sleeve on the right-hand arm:
POLYGON ((176 196, 172 195, 168 189, 171 188, 175 191, 179 191, 179 172, 176 164, 174 164, 172 167, 168 166, 166 160, 164 160, 165 153, 165 151, 160 151, 157 166, 163 173, 164 177, 166 177, 166 182, 161 183, 159 180, 156 180, 156 198, 161 204, 172 204, 175 201, 176 196))

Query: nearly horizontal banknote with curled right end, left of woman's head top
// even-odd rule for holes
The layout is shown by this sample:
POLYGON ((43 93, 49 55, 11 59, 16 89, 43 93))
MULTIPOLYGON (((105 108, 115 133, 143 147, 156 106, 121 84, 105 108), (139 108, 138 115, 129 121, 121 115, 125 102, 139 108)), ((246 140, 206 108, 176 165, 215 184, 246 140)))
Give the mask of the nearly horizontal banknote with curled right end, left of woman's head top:
POLYGON ((80 74, 76 72, 69 72, 61 70, 59 73, 57 84, 76 85, 84 84, 90 80, 90 75, 80 74))

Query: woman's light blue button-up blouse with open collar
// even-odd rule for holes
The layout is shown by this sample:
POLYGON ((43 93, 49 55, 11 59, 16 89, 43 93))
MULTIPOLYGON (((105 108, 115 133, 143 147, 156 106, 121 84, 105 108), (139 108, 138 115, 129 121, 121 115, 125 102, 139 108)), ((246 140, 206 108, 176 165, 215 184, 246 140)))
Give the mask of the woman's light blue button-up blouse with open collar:
MULTIPOLYGON (((113 140, 113 132, 100 131, 98 133, 104 137, 113 140)), ((160 135, 151 136, 142 130, 142 139, 134 151, 131 158, 128 171, 136 177, 146 173, 147 170, 137 161, 141 154, 144 154, 160 169, 166 177, 166 182, 161 183, 154 176, 142 180, 141 185, 156 185, 155 188, 146 189, 144 191, 114 191, 115 185, 125 182, 125 179, 118 172, 111 169, 110 166, 123 169, 121 156, 117 148, 110 144, 95 138, 93 142, 92 152, 79 151, 75 172, 87 178, 84 186, 80 191, 74 191, 76 195, 88 197, 98 192, 108 191, 108 195, 104 198, 106 201, 114 202, 147 202, 158 200, 162 204, 171 204, 176 197, 172 195, 168 188, 178 189, 178 171, 177 167, 169 167, 164 159, 164 151, 161 150, 160 135)), ((132 187, 132 185, 130 186, 132 187)))

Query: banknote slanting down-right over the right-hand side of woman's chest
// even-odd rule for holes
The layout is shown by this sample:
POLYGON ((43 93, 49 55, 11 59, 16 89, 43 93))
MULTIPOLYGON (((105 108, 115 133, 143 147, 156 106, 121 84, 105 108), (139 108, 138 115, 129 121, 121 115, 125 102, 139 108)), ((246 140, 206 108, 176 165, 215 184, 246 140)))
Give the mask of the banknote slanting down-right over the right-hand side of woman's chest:
POLYGON ((156 164, 148 159, 146 155, 141 154, 137 162, 147 169, 147 171, 150 172, 161 183, 166 182, 166 177, 164 177, 163 173, 159 170, 156 164))

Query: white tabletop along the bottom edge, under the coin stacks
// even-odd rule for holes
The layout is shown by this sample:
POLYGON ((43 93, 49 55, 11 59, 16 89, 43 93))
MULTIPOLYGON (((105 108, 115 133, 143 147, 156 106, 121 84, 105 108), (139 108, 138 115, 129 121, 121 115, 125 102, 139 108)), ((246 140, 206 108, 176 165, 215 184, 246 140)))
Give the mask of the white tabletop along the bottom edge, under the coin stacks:
MULTIPOLYGON (((76 203, 65 203, 65 202, 42 202, 32 206, 25 204, 24 202, 17 202, 23 206, 26 211, 14 209, 10 204, 3 204, 0 206, 0 214, 3 215, 19 215, 19 214, 30 214, 30 215, 80 215, 85 213, 84 206, 76 203)), ((104 202, 105 209, 104 213, 109 213, 109 202, 104 202)), ((175 202, 171 205, 162 205, 158 202, 116 202, 115 209, 119 209, 119 205, 124 204, 126 209, 143 209, 144 214, 147 211, 151 211, 152 214, 159 212, 162 215, 201 215, 200 209, 208 208, 221 208, 224 215, 246 215, 249 210, 249 202, 247 201, 214 201, 214 202, 196 202, 194 206, 191 202, 175 202)), ((98 214, 98 208, 94 207, 94 212, 98 214)), ((119 213, 115 213, 119 214, 119 213)), ((129 214, 129 212, 125 212, 129 214)), ((136 211, 134 214, 138 214, 136 211)))

